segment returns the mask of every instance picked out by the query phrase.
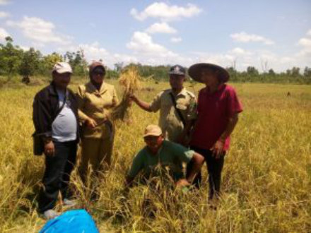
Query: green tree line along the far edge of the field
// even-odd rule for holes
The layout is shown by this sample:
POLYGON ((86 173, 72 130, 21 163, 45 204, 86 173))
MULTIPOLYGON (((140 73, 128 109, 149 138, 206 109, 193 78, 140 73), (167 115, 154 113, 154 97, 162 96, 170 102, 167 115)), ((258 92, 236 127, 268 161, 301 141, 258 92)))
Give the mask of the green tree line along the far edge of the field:
MULTIPOLYGON (((18 45, 13 44, 11 37, 5 38, 5 43, 0 44, 0 76, 11 80, 13 76, 49 76, 52 66, 57 61, 69 62, 73 68, 75 76, 88 76, 88 62, 86 61, 83 50, 76 52, 66 52, 66 54, 42 55, 39 50, 33 47, 23 50, 18 45)), ((140 76, 155 81, 167 80, 167 66, 148 66, 142 64, 128 64, 124 66, 122 62, 115 64, 114 68, 107 68, 107 78, 118 78, 119 73, 129 66, 136 66, 140 76)), ((306 83, 311 84, 311 68, 293 67, 285 72, 276 73, 272 68, 263 73, 259 73, 254 66, 247 67, 246 71, 237 71, 234 67, 228 67, 230 81, 232 82, 256 82, 256 83, 306 83)))

